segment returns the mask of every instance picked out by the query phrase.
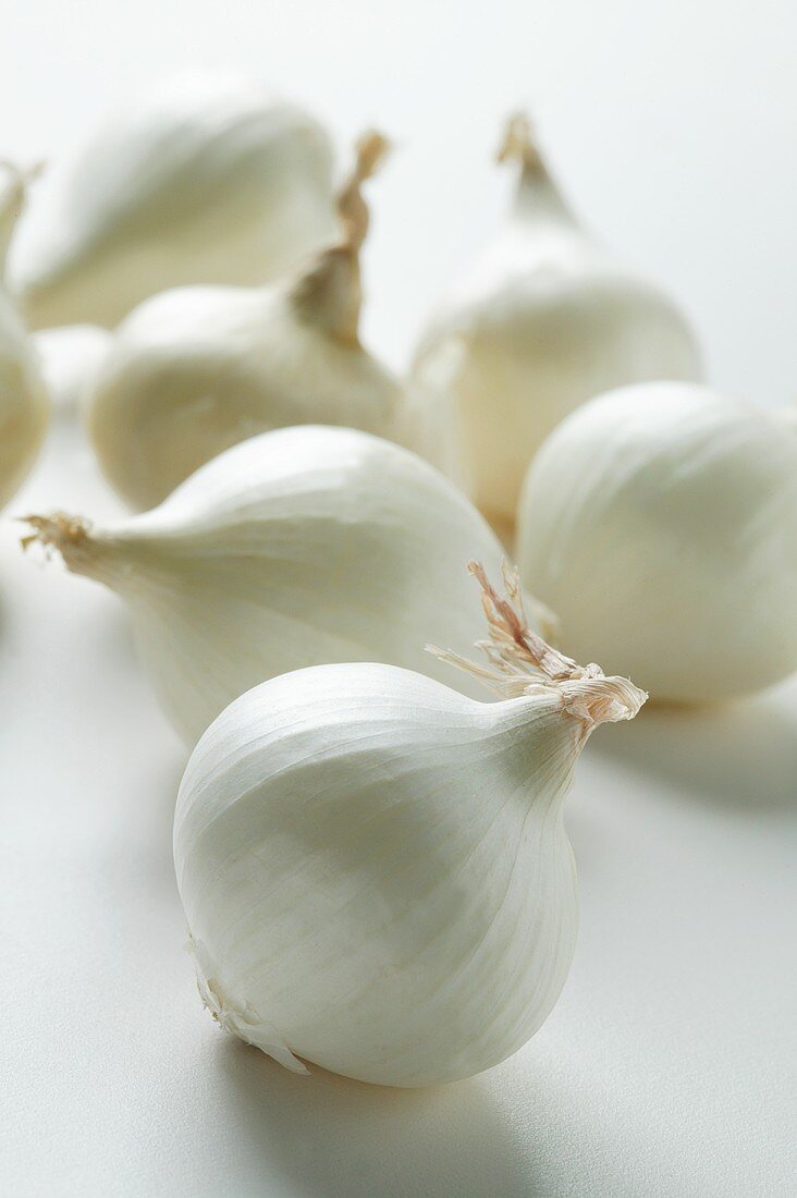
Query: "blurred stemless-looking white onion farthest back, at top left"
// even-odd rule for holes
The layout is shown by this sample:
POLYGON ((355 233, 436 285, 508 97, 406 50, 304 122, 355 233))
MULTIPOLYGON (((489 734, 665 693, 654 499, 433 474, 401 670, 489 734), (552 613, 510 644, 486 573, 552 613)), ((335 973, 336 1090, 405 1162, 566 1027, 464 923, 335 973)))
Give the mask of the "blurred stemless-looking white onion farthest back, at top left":
POLYGON ((113 328, 167 288, 262 283, 334 230, 318 121, 249 79, 189 72, 134 98, 53 170, 12 282, 32 328, 113 328))

